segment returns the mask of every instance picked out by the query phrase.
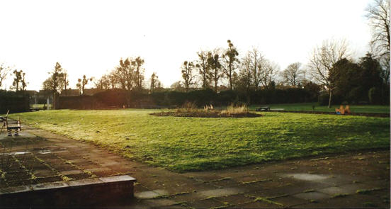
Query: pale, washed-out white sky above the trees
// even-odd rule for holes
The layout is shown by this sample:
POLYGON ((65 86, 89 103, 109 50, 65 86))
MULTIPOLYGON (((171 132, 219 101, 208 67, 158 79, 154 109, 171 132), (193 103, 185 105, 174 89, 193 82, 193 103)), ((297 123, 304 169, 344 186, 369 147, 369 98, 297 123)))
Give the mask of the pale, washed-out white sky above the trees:
MULTIPOLYGON (((145 59, 165 87, 199 50, 252 47, 285 69, 307 63, 322 40, 346 38, 356 56, 369 50, 367 0, 258 1, 0 1, 0 62, 26 72, 41 89, 56 62, 77 79, 101 77, 121 57, 145 59)), ((12 77, 8 78, 7 89, 12 77)), ((4 89, 4 86, 2 86, 4 89)))

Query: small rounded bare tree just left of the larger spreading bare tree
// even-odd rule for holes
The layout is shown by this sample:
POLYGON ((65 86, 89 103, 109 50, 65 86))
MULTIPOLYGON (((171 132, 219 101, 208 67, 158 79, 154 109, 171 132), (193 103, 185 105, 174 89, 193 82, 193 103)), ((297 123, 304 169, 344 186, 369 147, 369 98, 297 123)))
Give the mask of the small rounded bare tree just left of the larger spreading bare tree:
POLYGON ((290 86, 297 86, 304 79, 305 71, 301 69, 301 63, 295 62, 289 64, 283 72, 281 72, 281 77, 283 77, 283 82, 290 86))

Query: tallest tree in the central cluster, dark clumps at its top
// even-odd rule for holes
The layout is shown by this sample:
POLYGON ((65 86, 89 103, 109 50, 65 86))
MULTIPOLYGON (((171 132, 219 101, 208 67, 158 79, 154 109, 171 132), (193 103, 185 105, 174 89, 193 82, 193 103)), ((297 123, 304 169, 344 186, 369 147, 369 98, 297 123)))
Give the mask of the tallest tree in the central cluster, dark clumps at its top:
POLYGON ((231 43, 231 40, 227 40, 227 43, 228 49, 225 50, 225 53, 222 56, 222 72, 224 72, 229 81, 229 89, 232 90, 232 75, 234 74, 235 69, 237 69, 237 64, 239 63, 239 59, 237 58, 239 52, 237 52, 237 49, 231 43))

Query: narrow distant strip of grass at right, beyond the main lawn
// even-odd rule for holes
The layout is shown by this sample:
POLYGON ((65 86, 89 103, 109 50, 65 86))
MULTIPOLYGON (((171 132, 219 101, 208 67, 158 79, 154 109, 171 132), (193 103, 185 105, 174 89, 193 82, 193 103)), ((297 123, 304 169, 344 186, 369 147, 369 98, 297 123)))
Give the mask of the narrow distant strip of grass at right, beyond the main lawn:
MULTIPOLYGON (((285 111, 312 111, 313 105, 315 106, 314 111, 319 112, 335 112, 335 108, 339 108, 339 106, 331 106, 331 108, 328 108, 328 106, 319 106, 318 103, 281 103, 264 106, 269 106, 272 109, 283 108, 285 111)), ((250 109, 255 111, 256 107, 259 106, 251 106, 250 109)), ((352 113, 390 113, 390 106, 351 105, 350 108, 352 113)))

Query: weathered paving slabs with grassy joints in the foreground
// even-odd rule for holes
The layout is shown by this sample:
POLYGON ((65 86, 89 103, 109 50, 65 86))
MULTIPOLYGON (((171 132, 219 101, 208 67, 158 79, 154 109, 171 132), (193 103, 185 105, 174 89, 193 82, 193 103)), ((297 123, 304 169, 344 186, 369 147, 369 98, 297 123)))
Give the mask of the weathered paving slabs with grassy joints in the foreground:
POLYGON ((12 147, 2 149, 0 155, 2 170, 6 169, 0 192, 35 183, 129 175, 137 179, 135 198, 93 206, 390 208, 390 150, 178 174, 26 126, 18 137, 1 134, 0 142, 12 147), (6 160, 13 164, 4 167, 6 160))

